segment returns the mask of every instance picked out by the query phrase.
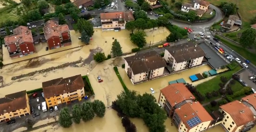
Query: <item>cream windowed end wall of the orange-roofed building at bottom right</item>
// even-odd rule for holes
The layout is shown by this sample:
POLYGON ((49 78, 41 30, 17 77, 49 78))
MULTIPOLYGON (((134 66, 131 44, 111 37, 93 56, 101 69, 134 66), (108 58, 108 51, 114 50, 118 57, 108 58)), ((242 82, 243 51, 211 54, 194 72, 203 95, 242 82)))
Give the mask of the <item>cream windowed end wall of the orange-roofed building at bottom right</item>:
MULTIPOLYGON (((236 123, 231 118, 231 115, 229 115, 229 113, 227 113, 227 112, 225 112, 225 113, 226 113, 225 118, 222 120, 221 124, 225 127, 226 130, 233 131, 236 128, 236 123)), ((243 127, 243 125, 239 126, 239 128, 242 128, 242 127, 243 127)))

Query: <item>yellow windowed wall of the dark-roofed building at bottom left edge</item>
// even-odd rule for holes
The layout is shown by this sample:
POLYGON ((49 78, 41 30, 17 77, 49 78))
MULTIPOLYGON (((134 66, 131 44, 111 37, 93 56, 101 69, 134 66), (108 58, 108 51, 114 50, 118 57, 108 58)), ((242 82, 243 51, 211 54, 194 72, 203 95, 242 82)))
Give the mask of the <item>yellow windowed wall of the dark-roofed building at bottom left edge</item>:
POLYGON ((13 117, 17 117, 17 116, 20 117, 20 115, 25 116, 26 113, 30 114, 30 101, 29 101, 29 98, 28 98, 27 94, 26 94, 26 100, 27 100, 27 107, 26 108, 17 109, 14 112, 3 113, 3 115, 0 115, 0 121, 10 119, 10 118, 13 118, 13 117))

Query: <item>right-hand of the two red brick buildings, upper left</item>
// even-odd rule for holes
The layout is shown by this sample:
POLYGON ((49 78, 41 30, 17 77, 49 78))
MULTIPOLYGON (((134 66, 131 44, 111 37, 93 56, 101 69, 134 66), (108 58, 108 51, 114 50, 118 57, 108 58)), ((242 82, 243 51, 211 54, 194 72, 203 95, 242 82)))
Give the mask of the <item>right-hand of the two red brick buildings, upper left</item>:
POLYGON ((46 21, 43 27, 49 49, 71 45, 70 28, 67 24, 58 25, 58 21, 46 21))

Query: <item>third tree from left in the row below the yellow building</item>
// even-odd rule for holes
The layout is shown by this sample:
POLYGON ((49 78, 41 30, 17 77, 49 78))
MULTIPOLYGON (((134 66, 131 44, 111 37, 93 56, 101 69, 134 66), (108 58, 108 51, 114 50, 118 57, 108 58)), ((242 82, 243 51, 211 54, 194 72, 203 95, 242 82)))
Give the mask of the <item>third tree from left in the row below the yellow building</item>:
POLYGON ((94 118, 93 112, 93 103, 92 102, 83 102, 81 105, 82 108, 82 120, 83 122, 88 122, 94 118))

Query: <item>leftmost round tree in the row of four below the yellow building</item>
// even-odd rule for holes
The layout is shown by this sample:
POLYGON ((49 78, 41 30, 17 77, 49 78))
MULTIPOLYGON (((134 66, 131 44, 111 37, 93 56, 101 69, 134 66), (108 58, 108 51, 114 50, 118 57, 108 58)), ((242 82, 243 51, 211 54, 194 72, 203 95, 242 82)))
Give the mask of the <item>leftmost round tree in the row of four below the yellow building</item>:
POLYGON ((58 116, 58 123, 64 128, 68 128, 72 125, 73 122, 67 107, 61 109, 60 115, 58 116))

